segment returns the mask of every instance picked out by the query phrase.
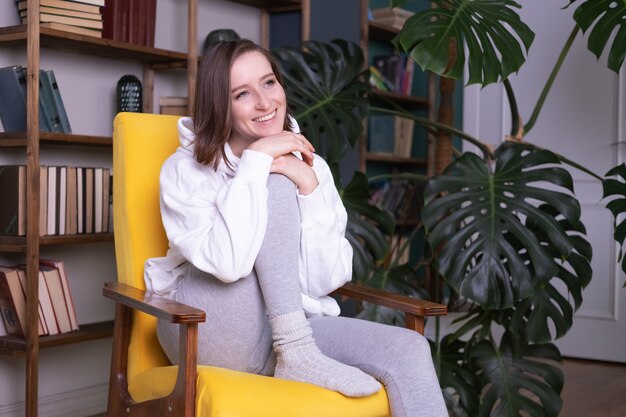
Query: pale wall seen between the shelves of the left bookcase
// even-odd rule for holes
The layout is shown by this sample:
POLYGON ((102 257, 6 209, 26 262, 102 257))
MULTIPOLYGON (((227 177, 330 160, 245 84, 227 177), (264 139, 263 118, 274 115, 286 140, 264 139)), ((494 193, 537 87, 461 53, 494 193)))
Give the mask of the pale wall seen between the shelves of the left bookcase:
MULTIPOLYGON (((155 46, 186 51, 187 2, 157 1, 155 46)), ((0 1, 0 27, 18 24, 13 1, 0 1)), ((225 0, 201 0, 198 10, 199 50, 206 34, 232 28, 240 36, 260 40, 257 9, 225 0)), ((53 69, 72 130, 88 135, 110 135, 115 112, 115 87, 124 74, 141 79, 142 66, 71 52, 44 49, 41 67, 53 69)), ((0 67, 26 64, 25 47, 0 47, 0 67)), ((155 109, 161 96, 186 95, 186 74, 157 74, 155 109)), ((0 92, 1 94, 2 92, 0 92)), ((2 129, 0 128, 0 131, 2 129)), ((0 150, 0 164, 24 163, 25 152, 0 150)), ((42 147, 43 164, 111 166, 110 149, 42 147)), ((112 319, 113 303, 102 297, 102 284, 116 280, 112 243, 44 247, 41 256, 65 260, 80 323, 112 319)), ((0 263, 23 262, 20 255, 0 253, 0 263)), ((5 334, 0 320, 0 335, 5 334)), ((106 407, 111 339, 44 349, 40 354, 39 407, 41 416, 88 416, 106 407)), ((24 415, 25 361, 0 356, 0 416, 24 415)))

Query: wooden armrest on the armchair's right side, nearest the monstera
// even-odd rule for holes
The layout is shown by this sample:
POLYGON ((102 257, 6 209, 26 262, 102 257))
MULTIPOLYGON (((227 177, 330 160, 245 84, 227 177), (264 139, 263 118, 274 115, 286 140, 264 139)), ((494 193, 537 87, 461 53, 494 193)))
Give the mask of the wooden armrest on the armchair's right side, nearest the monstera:
POLYGON ((448 313, 448 308, 443 304, 431 301, 418 300, 406 295, 393 294, 388 291, 376 290, 353 283, 347 283, 343 287, 333 291, 331 295, 352 298, 358 301, 365 301, 383 307, 393 308, 404 313, 414 314, 419 317, 424 316, 444 316, 448 313))

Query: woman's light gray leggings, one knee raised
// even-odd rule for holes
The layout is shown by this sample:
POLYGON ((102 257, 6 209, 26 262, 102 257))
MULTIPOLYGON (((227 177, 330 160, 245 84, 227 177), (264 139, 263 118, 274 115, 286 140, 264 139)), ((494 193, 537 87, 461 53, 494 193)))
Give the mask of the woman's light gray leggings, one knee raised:
MULTIPOLYGON (((225 284, 192 267, 178 288, 177 301, 207 315, 199 326, 198 363, 272 375, 276 355, 268 315, 302 308, 297 279, 300 214, 294 184, 272 174, 268 188, 268 229, 255 270, 225 284)), ((394 417, 448 415, 423 336, 346 317, 315 317, 309 322, 325 355, 356 366, 385 385, 394 417)), ((170 361, 176 363, 178 325, 160 321, 158 336, 170 361)))

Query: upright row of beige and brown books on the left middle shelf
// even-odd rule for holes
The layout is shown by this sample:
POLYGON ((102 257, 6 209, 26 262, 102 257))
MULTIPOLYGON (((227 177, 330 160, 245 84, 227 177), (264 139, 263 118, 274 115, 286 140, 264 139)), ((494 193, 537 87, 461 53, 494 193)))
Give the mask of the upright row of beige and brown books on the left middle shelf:
MULTIPOLYGON (((77 235, 109 232, 109 168, 41 166, 39 234, 77 235)), ((26 166, 0 166, 0 235, 26 234, 26 166)))

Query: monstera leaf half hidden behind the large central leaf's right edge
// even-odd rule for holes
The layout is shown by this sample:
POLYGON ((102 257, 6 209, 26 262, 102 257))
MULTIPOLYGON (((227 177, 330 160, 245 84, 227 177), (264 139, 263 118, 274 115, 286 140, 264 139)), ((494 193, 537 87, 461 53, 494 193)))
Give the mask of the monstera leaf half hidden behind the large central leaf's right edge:
MULTIPOLYGON (((558 219, 558 213, 554 208, 544 205, 540 209, 558 219)), ((554 330, 554 338, 562 337, 569 331, 573 323, 574 310, 582 303, 582 290, 591 281, 592 250, 584 238, 584 225, 580 222, 572 225, 565 219, 558 221, 570 236, 573 245, 573 250, 566 259, 562 259, 559 253, 549 246, 547 236, 542 233, 540 227, 533 224, 532 219, 527 223, 539 237, 541 244, 552 253, 554 261, 559 266, 559 271, 552 280, 560 280, 571 295, 571 298, 566 298, 550 280, 539 285, 530 297, 515 306, 509 329, 518 335, 525 334, 527 340, 533 343, 553 340, 551 328, 554 330)))

